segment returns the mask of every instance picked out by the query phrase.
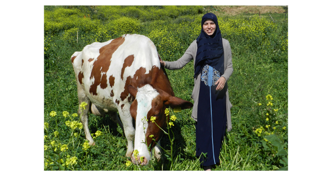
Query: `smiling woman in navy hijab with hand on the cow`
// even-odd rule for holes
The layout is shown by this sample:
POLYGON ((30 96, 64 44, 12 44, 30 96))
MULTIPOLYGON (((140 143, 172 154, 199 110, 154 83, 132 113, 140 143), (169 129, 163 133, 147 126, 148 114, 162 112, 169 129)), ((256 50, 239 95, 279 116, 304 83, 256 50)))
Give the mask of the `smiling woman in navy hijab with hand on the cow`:
POLYGON ((174 62, 160 60, 167 69, 180 69, 194 60, 194 107, 196 124, 196 156, 204 170, 219 164, 219 153, 225 130, 232 129, 227 80, 233 72, 229 42, 221 37, 217 17, 202 17, 201 33, 185 54, 174 62), (205 156, 202 153, 206 153, 205 156))

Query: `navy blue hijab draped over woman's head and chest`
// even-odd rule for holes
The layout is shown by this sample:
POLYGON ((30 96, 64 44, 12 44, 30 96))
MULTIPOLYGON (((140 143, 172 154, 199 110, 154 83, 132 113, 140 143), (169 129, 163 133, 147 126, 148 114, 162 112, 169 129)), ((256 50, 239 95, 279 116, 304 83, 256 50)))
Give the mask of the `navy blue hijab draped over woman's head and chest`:
POLYGON ((224 73, 224 48, 222 46, 221 32, 218 25, 217 16, 207 13, 202 17, 201 34, 197 37, 197 53, 195 60, 195 75, 201 73, 204 65, 208 64, 224 73), (212 19, 216 25, 213 35, 209 36, 203 31, 203 24, 207 19, 212 19))

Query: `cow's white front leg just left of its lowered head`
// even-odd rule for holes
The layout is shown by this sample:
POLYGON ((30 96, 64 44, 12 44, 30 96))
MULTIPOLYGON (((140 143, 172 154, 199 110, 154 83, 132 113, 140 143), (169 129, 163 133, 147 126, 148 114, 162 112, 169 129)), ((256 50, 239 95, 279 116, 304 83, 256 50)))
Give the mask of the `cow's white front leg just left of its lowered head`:
POLYGON ((134 151, 133 141, 135 138, 135 128, 133 126, 133 119, 130 115, 129 109, 130 109, 129 103, 125 104, 122 109, 119 108, 119 115, 122 121, 124 134, 128 141, 128 146, 127 146, 128 148, 126 152, 127 157, 131 157, 131 154, 134 151))

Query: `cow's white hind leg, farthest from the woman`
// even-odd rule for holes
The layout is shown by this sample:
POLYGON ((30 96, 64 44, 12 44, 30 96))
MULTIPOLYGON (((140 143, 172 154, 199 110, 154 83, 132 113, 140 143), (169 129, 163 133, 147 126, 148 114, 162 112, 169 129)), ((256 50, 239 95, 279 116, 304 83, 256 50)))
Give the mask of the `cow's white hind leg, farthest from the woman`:
POLYGON ((80 84, 77 84, 77 96, 78 96, 79 105, 81 105, 82 102, 85 102, 88 104, 85 107, 86 109, 80 108, 80 106, 78 106, 77 113, 80 116, 80 122, 83 124, 84 133, 86 134, 86 139, 89 141, 90 145, 94 145, 94 139, 92 139, 92 136, 89 131, 89 126, 88 126, 90 99, 88 98, 88 96, 86 95, 85 91, 83 90, 83 88, 80 84))

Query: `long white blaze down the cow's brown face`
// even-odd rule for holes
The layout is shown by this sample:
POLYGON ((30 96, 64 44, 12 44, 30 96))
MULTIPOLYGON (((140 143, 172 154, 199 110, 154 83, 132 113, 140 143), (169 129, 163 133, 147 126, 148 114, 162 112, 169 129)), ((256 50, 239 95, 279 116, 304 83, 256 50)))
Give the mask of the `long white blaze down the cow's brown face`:
POLYGON ((136 95, 137 101, 137 115, 136 115, 136 128, 135 128, 135 149, 139 151, 138 156, 144 156, 147 160, 150 160, 150 154, 145 142, 145 133, 147 130, 147 122, 144 120, 147 116, 147 112, 152 108, 151 102, 157 97, 159 93, 153 89, 149 84, 146 84, 138 88, 136 95))

